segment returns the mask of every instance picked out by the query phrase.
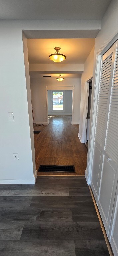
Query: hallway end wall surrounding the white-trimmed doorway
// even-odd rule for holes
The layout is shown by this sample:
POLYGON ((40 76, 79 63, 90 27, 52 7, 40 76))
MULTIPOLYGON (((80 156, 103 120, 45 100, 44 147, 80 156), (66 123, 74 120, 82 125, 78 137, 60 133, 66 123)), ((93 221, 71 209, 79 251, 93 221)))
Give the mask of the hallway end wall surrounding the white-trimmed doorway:
MULTIPOLYGON (((56 83, 57 81, 55 81, 55 79, 50 78, 30 78, 31 98, 35 122, 43 124, 47 123, 45 120, 45 118, 47 119, 47 108, 44 107, 44 105, 46 105, 46 86, 56 86, 56 83)), ((81 78, 66 78, 61 83, 61 87, 62 86, 74 86, 73 124, 79 124, 81 78)), ((71 111, 69 113, 71 113, 71 111)))

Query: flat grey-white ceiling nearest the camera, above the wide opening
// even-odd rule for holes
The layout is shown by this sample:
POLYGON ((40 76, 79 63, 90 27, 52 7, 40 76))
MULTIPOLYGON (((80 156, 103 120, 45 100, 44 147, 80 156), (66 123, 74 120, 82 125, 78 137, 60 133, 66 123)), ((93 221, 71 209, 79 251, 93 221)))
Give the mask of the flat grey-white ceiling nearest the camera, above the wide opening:
POLYGON ((1 0, 1 20, 101 20, 109 0, 1 0))

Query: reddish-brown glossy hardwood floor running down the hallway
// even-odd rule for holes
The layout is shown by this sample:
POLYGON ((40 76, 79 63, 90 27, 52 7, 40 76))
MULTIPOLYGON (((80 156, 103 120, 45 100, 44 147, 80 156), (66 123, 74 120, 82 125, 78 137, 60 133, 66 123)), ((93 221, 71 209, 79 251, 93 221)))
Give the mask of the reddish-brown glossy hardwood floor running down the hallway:
MULTIPOLYGON (((41 130, 34 134, 37 170, 40 165, 74 165, 75 173, 63 174, 84 175, 87 148, 80 143, 79 125, 71 124, 71 116, 50 116, 49 125, 34 127, 34 130, 41 130)), ((50 174, 62 175, 59 172, 50 174)))

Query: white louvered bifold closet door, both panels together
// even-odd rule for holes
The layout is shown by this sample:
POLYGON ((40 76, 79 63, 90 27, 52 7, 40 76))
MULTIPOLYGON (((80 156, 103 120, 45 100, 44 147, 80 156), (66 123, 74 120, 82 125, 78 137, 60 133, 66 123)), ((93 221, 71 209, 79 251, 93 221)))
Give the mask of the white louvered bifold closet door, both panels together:
POLYGON ((118 181, 118 42, 101 58, 91 188, 109 235, 118 181))

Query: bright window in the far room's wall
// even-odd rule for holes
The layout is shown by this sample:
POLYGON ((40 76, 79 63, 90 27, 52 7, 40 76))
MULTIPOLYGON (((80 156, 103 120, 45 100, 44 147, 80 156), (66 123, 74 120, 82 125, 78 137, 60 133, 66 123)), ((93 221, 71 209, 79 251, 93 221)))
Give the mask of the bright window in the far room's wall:
POLYGON ((52 92, 52 103, 53 103, 53 110, 63 111, 63 92, 52 92))

